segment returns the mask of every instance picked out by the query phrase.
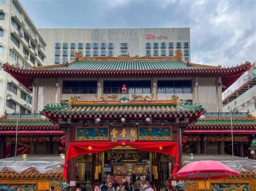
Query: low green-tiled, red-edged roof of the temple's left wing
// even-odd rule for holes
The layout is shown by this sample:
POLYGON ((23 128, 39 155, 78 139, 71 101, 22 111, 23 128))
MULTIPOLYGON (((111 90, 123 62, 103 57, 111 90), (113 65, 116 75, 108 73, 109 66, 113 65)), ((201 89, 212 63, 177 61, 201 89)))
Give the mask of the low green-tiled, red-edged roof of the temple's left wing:
POLYGON ((58 124, 54 124, 49 119, 42 120, 41 116, 39 114, 5 114, 0 117, 0 135, 16 134, 17 117, 20 135, 64 135, 58 124))

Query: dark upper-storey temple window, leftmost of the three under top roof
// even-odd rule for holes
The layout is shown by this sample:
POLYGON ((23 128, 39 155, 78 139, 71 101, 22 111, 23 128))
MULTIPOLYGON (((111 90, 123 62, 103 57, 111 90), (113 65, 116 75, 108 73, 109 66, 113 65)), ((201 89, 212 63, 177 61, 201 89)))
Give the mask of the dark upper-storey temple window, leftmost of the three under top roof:
POLYGON ((63 93, 97 93, 97 81, 63 81, 63 93))

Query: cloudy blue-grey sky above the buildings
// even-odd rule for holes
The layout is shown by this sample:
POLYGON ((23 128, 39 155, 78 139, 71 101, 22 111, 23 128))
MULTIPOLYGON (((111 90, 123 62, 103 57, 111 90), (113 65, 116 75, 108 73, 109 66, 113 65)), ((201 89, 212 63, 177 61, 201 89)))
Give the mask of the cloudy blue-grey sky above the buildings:
POLYGON ((39 28, 190 27, 191 62, 255 62, 255 0, 20 0, 39 28))

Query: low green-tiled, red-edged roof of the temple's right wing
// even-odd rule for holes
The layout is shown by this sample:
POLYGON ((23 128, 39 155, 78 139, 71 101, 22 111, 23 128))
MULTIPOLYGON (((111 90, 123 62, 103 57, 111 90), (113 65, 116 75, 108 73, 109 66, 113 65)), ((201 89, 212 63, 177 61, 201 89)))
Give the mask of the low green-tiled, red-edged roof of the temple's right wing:
POLYGON ((214 133, 231 134, 232 128, 235 134, 255 134, 256 118, 248 113, 206 113, 205 119, 199 119, 188 125, 186 134, 214 133), (218 115, 218 117, 213 116, 218 115), (212 117, 210 117, 212 116, 212 117))

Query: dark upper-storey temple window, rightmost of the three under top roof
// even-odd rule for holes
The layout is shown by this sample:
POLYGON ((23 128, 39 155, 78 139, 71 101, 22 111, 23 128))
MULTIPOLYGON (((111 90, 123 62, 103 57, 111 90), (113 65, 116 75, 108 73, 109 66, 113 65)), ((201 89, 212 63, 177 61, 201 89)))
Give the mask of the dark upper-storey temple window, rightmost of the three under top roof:
POLYGON ((158 93, 192 93, 191 80, 159 80, 158 93))

